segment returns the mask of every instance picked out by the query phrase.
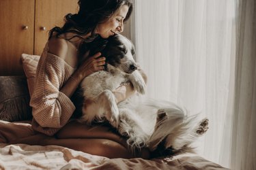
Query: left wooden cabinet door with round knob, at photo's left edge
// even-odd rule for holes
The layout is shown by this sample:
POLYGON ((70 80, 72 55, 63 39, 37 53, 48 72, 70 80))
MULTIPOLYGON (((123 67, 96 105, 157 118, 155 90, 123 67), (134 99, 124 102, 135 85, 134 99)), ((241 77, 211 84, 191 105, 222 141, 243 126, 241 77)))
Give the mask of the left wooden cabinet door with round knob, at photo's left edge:
POLYGON ((20 56, 33 54, 34 6, 34 0, 0 1, 0 75, 24 74, 20 56))

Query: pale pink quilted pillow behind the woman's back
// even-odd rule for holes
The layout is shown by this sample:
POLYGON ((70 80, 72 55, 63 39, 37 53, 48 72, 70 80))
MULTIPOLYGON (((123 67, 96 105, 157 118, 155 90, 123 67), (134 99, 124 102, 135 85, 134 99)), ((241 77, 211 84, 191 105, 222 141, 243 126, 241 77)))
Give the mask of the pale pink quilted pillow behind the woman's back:
POLYGON ((21 54, 21 61, 23 62, 23 70, 27 77, 27 86, 29 88, 29 95, 33 93, 33 87, 35 86, 35 72, 38 67, 38 61, 40 56, 21 54))

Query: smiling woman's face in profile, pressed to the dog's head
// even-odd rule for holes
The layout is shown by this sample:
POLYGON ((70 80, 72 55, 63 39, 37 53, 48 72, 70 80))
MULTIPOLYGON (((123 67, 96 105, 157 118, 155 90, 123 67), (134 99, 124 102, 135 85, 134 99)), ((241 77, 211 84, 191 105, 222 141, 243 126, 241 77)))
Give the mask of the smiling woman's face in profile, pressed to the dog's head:
POLYGON ((114 33, 122 33, 124 31, 124 18, 129 10, 128 5, 122 5, 119 7, 111 18, 106 20, 101 24, 98 24, 96 28, 96 33, 98 33, 102 38, 108 38, 114 33))

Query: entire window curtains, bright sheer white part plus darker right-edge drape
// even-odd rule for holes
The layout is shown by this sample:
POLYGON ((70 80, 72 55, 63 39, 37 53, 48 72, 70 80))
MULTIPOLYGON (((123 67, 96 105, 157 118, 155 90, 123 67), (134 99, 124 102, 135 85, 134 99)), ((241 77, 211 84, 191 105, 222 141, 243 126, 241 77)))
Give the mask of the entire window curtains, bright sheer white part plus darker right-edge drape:
POLYGON ((130 30, 147 96, 210 119, 198 153, 256 169, 255 0, 134 0, 130 30))

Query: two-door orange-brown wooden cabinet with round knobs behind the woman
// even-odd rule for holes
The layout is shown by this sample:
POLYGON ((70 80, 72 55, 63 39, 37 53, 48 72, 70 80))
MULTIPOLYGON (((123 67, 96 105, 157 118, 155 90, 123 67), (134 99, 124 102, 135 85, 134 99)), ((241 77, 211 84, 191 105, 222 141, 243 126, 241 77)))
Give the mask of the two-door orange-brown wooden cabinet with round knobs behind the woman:
POLYGON ((48 31, 62 27, 77 0, 0 0, 0 75, 23 75, 20 56, 42 53, 48 31))

